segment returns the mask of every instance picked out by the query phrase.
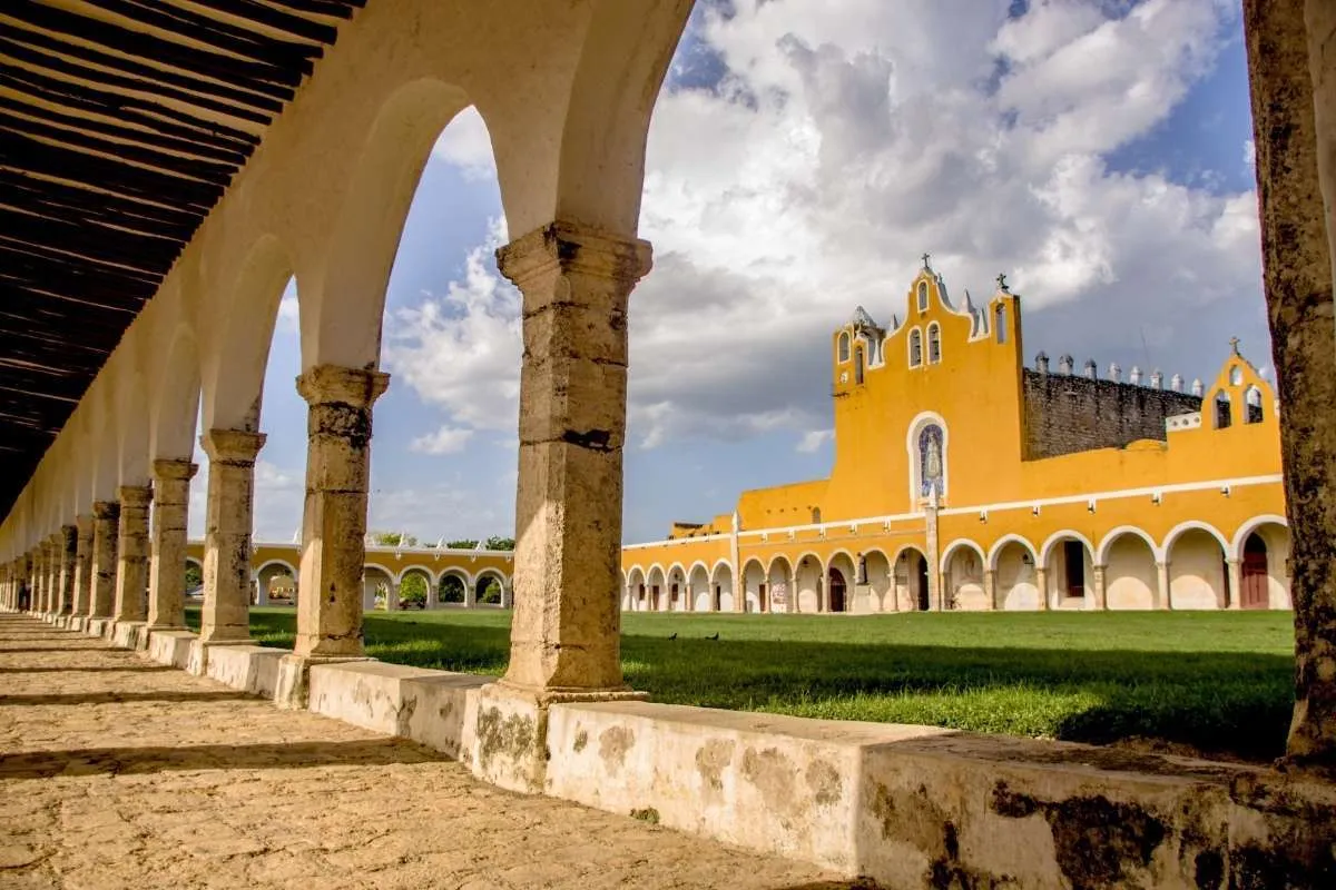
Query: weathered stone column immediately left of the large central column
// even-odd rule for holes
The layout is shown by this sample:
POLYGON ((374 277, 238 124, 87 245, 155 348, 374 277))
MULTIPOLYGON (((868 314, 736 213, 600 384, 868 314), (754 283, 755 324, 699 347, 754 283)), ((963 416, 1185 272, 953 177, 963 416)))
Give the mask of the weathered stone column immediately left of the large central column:
MULTIPOLYGON (((285 669, 285 694, 305 697, 310 659, 363 656, 362 571, 366 490, 371 463, 371 406, 389 387, 379 371, 317 366, 297 379, 309 406, 306 504, 297 603, 297 646, 285 669), (305 660, 303 660, 305 659, 305 660)), ((391 582, 390 587, 394 584, 391 582)))

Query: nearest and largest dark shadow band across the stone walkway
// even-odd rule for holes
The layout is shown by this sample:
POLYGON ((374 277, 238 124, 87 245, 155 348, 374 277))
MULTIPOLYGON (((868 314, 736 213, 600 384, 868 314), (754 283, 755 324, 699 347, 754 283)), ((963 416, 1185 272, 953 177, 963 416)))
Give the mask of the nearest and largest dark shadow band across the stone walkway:
MULTIPOLYGON (((313 766, 389 766, 450 758, 403 739, 94 747, 0 757, 0 782, 56 775, 142 775, 167 770, 282 770, 313 766)), ((832 885, 840 886, 844 885, 832 885)), ((795 889, 796 890, 796 889, 795 889)), ((815 889, 814 889, 815 890, 815 889)))

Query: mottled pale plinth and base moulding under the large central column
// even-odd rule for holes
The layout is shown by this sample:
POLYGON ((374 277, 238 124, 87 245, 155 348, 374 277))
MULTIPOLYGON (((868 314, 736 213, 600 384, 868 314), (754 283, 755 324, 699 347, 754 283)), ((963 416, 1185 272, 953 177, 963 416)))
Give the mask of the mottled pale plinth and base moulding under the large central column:
POLYGON ((469 763, 473 774, 509 791, 542 794, 546 787, 548 709, 574 702, 644 702, 648 693, 517 686, 506 681, 478 690, 477 725, 469 763))

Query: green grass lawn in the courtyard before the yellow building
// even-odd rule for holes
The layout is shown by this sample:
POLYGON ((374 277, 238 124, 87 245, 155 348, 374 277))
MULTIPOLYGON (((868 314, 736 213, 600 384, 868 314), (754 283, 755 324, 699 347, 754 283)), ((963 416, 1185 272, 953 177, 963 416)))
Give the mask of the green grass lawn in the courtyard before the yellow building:
MULTIPOLYGON (((386 662, 500 675, 509 623, 371 612, 366 643, 386 662)), ((291 608, 251 610, 265 643, 291 646, 294 627, 291 608)), ((1293 706, 1288 612, 631 614, 621 658, 656 702, 1244 759, 1284 753, 1293 706)))

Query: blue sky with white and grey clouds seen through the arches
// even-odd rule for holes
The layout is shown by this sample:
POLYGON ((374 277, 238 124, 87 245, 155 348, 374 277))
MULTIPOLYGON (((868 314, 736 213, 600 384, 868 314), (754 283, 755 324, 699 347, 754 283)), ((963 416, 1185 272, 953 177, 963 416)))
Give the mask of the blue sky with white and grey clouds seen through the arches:
MULTIPOLYGON (((1025 348, 1214 376, 1271 344, 1237 3, 700 0, 649 129, 631 298, 624 539, 826 476, 830 335, 902 312, 931 254, 998 272, 1025 348), (708 136, 708 137, 703 137, 708 136)), ((386 295, 369 527, 510 535, 518 294, 481 117, 442 132, 386 295)), ((297 295, 281 306, 255 539, 301 527, 297 295)), ((207 460, 192 486, 203 528, 207 460)))

